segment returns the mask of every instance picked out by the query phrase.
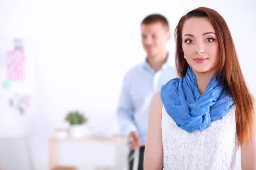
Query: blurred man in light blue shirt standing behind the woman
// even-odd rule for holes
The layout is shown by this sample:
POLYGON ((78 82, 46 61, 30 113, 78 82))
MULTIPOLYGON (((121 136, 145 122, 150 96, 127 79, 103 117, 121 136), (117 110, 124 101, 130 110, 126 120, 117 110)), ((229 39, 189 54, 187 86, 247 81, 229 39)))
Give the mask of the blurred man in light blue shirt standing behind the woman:
MULTIPOLYGON (((143 47, 148 54, 145 61, 129 70, 124 78, 117 109, 120 131, 134 149, 140 150, 138 170, 143 170, 143 156, 148 131, 148 111, 151 99, 161 85, 176 78, 170 65, 166 42, 171 38, 169 24, 160 14, 152 14, 141 23, 143 47)), ((133 161, 129 162, 132 170, 133 161)), ((136 168, 137 169, 137 168, 136 168)))

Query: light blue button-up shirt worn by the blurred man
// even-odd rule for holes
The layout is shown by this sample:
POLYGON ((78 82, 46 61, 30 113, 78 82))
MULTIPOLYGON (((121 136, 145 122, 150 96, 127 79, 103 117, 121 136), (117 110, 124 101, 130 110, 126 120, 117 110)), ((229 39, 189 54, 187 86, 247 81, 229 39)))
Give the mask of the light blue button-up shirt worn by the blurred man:
POLYGON ((151 99, 162 85, 176 76, 170 57, 157 72, 145 59, 125 74, 117 108, 120 132, 124 137, 127 138, 131 131, 137 131, 141 141, 145 143, 151 99))

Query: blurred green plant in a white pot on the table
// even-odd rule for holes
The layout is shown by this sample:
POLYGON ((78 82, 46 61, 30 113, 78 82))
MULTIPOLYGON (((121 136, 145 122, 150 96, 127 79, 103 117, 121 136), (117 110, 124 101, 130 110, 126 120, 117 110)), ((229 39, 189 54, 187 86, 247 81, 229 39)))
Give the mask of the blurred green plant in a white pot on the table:
POLYGON ((81 138, 84 135, 84 126, 88 122, 87 117, 79 111, 70 111, 65 120, 70 123, 70 135, 75 138, 81 138))

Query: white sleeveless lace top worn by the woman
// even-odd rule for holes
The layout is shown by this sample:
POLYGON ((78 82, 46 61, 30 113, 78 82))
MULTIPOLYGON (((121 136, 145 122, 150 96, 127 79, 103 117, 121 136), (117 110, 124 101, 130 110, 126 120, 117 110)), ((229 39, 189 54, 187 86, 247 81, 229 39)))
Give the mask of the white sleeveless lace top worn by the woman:
POLYGON ((164 170, 233 170, 238 138, 235 105, 205 130, 188 133, 162 110, 164 170))

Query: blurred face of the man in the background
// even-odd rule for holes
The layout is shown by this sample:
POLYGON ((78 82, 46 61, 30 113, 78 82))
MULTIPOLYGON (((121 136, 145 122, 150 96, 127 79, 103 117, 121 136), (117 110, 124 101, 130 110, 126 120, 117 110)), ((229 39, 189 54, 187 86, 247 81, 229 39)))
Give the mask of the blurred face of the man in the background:
POLYGON ((170 31, 163 23, 156 22, 141 25, 142 44, 148 56, 156 56, 166 51, 166 42, 170 39, 170 31))

